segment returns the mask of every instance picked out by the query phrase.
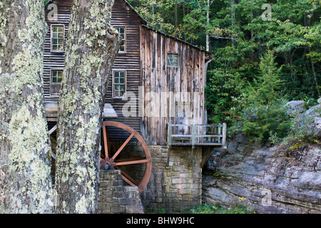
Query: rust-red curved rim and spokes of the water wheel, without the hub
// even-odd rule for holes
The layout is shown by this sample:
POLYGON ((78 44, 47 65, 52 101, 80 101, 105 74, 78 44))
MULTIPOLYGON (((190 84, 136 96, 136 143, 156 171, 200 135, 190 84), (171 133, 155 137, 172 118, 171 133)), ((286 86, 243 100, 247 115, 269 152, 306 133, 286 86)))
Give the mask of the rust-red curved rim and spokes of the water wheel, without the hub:
MULTIPOLYGON (((121 128, 123 130, 128 131, 128 133, 131 133, 130 137, 128 138, 129 140, 127 139, 124 142, 125 146, 127 145, 127 143, 133 137, 135 137, 138 140, 138 142, 141 143, 141 146, 143 147, 143 151, 145 153, 145 157, 143 157, 144 159, 136 160, 136 161, 131 162, 132 164, 145 163, 145 171, 144 171, 143 177, 142 177, 140 182, 133 181, 133 178, 131 178, 130 175, 128 175, 125 171, 121 170, 121 168, 119 167, 120 165, 132 165, 132 164, 129 164, 129 162, 126 163, 126 162, 123 162, 123 161, 120 161, 120 162, 115 161, 115 167, 116 167, 117 170, 121 170, 121 175, 122 175, 122 178, 123 178, 123 180, 125 182, 127 182, 131 186, 137 186, 139 192, 143 192, 143 190, 145 190, 145 188, 147 187, 148 182, 149 182, 149 180, 151 178, 152 160, 151 160, 151 152, 150 152, 150 150, 148 148, 148 145, 146 144, 146 142, 143 139, 143 137, 136 130, 131 128, 130 126, 128 126, 126 124, 123 124, 123 123, 115 122, 115 121, 104 121, 103 122, 103 140, 104 140, 105 148, 107 146, 107 142, 106 142, 106 140, 107 140, 107 138, 106 138, 106 127, 121 128)), ((123 145, 121 147, 123 147, 123 145)), ((122 148, 122 150, 123 150, 123 148, 122 148)), ((117 151, 116 154, 115 154, 116 156, 113 155, 113 157, 111 157, 109 155, 106 155, 106 156, 108 156, 108 157, 110 157, 112 159, 116 159, 116 157, 120 154, 120 152, 121 151, 117 151)))

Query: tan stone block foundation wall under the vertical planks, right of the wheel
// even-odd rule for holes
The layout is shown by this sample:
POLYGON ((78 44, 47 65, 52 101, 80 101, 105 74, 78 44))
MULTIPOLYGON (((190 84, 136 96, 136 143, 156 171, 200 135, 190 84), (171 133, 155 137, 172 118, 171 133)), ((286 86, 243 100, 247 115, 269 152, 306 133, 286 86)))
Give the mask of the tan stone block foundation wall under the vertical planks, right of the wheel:
POLYGON ((148 146, 153 161, 151 180, 141 194, 146 209, 164 208, 166 212, 201 203, 202 148, 148 146), (168 150, 170 159, 168 162, 168 150))

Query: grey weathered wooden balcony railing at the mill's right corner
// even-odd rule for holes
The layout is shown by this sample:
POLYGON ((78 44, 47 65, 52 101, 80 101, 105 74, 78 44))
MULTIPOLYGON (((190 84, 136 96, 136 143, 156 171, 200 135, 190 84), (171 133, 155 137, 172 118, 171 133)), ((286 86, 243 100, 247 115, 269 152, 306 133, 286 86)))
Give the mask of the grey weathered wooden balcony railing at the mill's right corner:
POLYGON ((226 123, 184 125, 168 123, 168 145, 215 145, 226 147, 226 123))

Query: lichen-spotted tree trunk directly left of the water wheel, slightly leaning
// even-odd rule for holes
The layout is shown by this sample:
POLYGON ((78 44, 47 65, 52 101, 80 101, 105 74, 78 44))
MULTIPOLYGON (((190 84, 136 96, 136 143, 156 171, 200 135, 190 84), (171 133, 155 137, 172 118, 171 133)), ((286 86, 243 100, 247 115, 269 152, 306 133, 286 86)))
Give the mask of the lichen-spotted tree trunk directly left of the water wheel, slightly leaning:
POLYGON ((101 127, 108 78, 119 50, 113 0, 73 1, 58 103, 56 213, 96 213, 101 127))

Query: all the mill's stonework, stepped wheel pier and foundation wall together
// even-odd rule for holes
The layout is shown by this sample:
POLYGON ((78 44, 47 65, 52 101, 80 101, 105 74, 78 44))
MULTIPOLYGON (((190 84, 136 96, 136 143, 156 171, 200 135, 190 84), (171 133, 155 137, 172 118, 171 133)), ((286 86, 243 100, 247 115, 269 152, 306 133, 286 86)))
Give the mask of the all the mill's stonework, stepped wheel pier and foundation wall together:
MULTIPOLYGON (((121 145, 121 142, 118 144, 121 145)), ((119 145, 115 144, 115 147, 118 148, 119 145)), ((191 146, 168 148, 165 145, 149 145, 148 147, 151 151, 153 165, 151 179, 146 189, 141 193, 143 206, 151 211, 165 209, 166 212, 180 212, 183 208, 201 204, 202 147, 195 147, 193 152, 191 146)), ((126 147, 121 152, 121 158, 143 155, 143 148, 136 144, 126 147)), ((143 165, 126 165, 122 168, 125 172, 130 173, 134 180, 141 180, 144 171, 143 165)), ((132 202, 131 200, 123 200, 123 194, 126 194, 128 188, 121 186, 123 184, 126 185, 126 182, 121 180, 120 171, 101 172, 101 197, 99 200, 101 213, 141 212, 139 207, 142 206, 140 202, 136 202, 138 198, 133 197, 132 202), (119 174, 115 172, 119 172, 119 174), (113 184, 110 183, 111 180, 113 184), (133 210, 130 210, 129 206, 133 207, 133 210)))

